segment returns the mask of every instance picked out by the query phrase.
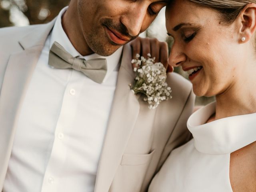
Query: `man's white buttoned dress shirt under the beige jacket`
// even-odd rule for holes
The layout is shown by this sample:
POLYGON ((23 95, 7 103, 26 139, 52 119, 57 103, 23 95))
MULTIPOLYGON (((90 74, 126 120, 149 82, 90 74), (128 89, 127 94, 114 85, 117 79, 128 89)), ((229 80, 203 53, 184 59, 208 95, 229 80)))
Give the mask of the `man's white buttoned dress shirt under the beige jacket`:
POLYGON ((122 48, 106 58, 97 84, 82 72, 48 66, 54 41, 82 57, 66 36, 61 16, 49 34, 22 104, 3 192, 92 192, 116 88, 122 48))

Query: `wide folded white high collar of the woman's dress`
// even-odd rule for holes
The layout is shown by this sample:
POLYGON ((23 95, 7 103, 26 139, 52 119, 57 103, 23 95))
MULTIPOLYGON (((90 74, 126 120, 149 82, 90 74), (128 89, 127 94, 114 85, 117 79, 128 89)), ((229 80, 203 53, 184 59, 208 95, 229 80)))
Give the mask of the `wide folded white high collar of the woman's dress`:
POLYGON ((228 154, 256 141, 256 113, 205 123, 215 110, 216 102, 213 102, 194 112, 188 119, 187 126, 199 152, 228 154))

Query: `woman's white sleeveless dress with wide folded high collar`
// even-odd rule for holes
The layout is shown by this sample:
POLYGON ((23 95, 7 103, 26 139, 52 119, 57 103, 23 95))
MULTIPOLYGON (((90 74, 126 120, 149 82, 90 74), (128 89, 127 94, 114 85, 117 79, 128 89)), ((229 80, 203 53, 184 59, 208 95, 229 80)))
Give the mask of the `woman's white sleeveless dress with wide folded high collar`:
POLYGON ((171 152, 149 192, 232 192, 230 153, 256 141, 256 113, 205 123, 215 106, 190 116, 187 126, 194 139, 171 152))

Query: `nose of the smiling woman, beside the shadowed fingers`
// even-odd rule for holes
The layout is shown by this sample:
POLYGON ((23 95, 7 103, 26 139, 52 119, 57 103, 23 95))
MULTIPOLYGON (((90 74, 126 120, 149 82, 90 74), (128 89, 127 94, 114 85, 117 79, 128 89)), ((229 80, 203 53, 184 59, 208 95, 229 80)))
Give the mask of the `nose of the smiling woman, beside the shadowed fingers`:
POLYGON ((169 64, 173 67, 178 67, 186 61, 186 59, 187 57, 182 51, 182 47, 174 42, 169 56, 169 64))

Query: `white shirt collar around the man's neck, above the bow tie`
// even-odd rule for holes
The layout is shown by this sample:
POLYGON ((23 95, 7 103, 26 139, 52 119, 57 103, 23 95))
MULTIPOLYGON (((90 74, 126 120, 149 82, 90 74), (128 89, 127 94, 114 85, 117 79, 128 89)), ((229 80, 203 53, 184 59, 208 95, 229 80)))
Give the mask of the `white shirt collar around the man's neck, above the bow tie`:
POLYGON ((69 52, 73 57, 80 57, 84 58, 85 60, 95 59, 95 58, 105 58, 107 60, 108 70, 106 73, 106 76, 103 80, 103 82, 106 82, 108 77, 112 74, 112 72, 116 69, 118 69, 118 66, 120 65, 120 58, 122 55, 123 46, 118 48, 116 52, 114 52, 110 56, 100 56, 96 53, 88 55, 88 56, 82 56, 72 45, 70 42, 68 36, 64 32, 62 28, 62 15, 64 12, 68 9, 68 6, 64 7, 60 13, 57 16, 56 22, 54 24, 54 27, 52 29, 52 32, 50 34, 50 47, 52 44, 56 41, 61 46, 64 47, 64 49, 69 52))

